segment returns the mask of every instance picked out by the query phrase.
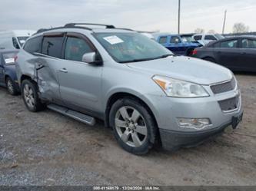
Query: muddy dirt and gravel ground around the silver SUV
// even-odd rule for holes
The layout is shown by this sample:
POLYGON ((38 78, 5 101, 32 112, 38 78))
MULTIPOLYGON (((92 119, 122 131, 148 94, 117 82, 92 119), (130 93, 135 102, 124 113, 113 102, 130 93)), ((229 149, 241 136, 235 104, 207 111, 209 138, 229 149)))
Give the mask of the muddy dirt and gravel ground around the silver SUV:
POLYGON ((175 153, 135 156, 111 130, 52 110, 31 113, 0 87, 0 185, 255 185, 256 74, 236 74, 244 120, 237 130, 175 153))

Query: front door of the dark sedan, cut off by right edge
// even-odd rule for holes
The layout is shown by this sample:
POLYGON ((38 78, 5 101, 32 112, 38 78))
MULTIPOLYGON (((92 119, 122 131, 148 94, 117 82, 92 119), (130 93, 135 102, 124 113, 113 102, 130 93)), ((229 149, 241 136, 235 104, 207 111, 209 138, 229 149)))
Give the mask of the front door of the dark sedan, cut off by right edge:
POLYGON ((256 71, 256 39, 241 38, 239 67, 246 71, 256 71))

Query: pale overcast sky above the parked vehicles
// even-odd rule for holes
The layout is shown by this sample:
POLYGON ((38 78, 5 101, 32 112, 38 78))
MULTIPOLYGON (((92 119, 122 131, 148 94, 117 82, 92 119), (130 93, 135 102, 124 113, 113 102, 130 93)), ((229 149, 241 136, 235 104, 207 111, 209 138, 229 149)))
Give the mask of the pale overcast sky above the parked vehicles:
MULTIPOLYGON (((255 0, 181 0, 181 33, 222 31, 243 22, 256 31, 255 0)), ((0 30, 50 28, 94 22, 138 31, 177 33, 178 0, 1 0, 0 30)))

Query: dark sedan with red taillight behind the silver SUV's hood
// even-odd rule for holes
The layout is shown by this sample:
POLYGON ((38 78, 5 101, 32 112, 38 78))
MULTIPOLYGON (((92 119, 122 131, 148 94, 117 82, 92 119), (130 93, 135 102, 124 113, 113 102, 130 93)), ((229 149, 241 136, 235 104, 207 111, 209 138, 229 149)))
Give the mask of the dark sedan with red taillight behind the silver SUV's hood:
POLYGON ((224 38, 195 49, 192 56, 221 64, 232 71, 256 71, 256 37, 224 38))

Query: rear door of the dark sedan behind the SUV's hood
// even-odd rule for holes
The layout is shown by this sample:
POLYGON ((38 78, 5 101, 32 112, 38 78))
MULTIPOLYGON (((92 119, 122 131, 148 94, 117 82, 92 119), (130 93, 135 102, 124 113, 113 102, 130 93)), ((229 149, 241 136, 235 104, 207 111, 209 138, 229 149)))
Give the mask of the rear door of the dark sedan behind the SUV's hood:
POLYGON ((239 65, 239 57, 241 56, 238 48, 238 39, 230 39, 227 41, 219 41, 214 44, 215 60, 227 68, 237 68, 239 65))

